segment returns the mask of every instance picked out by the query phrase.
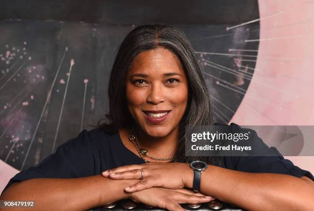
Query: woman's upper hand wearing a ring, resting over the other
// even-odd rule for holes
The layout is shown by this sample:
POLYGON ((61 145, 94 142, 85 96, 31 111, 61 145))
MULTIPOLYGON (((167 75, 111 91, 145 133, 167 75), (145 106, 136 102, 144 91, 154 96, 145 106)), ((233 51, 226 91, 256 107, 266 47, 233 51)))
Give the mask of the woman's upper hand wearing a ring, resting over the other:
POLYGON ((142 172, 144 179, 138 183, 126 187, 125 191, 142 191, 150 187, 165 187, 169 189, 181 189, 185 187, 187 178, 193 180, 193 171, 188 163, 162 163, 149 162, 145 164, 124 165, 102 173, 110 179, 141 179, 142 172))

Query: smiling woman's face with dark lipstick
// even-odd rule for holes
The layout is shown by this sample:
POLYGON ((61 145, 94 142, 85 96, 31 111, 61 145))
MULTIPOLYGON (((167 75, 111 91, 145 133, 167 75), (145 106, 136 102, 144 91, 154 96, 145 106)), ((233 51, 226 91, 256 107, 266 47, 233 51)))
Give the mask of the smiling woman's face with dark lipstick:
POLYGON ((163 137, 184 115, 188 82, 178 57, 164 48, 141 52, 126 76, 130 114, 149 136, 163 137))

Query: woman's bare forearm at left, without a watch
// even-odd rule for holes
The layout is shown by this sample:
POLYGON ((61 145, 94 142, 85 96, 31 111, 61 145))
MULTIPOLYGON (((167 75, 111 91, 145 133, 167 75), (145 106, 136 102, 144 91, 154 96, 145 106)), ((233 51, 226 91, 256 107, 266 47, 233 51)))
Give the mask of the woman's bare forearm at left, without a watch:
POLYGON ((125 192, 124 188, 137 181, 112 180, 101 175, 72 179, 29 179, 12 184, 0 199, 35 201, 39 210, 87 210, 128 198, 130 193, 125 192))

